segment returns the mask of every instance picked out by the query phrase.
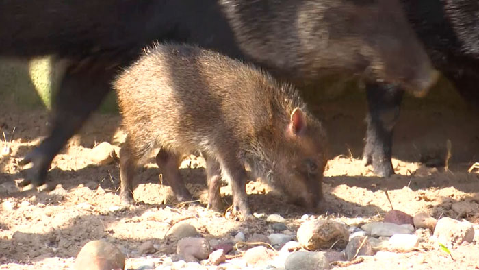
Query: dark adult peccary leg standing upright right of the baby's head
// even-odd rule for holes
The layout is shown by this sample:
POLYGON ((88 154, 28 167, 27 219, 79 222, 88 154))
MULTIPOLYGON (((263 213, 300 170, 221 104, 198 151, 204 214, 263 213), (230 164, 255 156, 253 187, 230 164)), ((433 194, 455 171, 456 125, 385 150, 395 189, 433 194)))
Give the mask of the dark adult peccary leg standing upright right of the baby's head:
POLYGON ((398 121, 403 90, 394 86, 367 85, 367 130, 363 162, 372 164, 380 177, 394 174, 391 163, 393 129, 398 121))

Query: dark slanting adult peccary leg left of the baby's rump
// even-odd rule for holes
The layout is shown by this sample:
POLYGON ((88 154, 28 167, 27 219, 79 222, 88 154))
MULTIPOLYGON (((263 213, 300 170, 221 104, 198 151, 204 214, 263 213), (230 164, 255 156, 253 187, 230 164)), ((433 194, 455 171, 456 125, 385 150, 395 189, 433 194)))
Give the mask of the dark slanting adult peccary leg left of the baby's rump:
POLYGON ((51 161, 103 101, 115 70, 98 63, 92 66, 77 62, 69 67, 55 99, 50 135, 21 160, 21 164, 33 163, 33 167, 25 170, 21 186, 45 183, 51 161))

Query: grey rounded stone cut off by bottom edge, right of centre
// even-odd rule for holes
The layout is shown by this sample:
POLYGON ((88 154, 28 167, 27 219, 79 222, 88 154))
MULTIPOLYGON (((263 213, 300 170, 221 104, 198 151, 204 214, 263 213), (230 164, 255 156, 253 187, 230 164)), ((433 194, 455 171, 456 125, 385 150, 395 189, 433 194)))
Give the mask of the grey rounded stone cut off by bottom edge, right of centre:
MULTIPOLYGON (((346 229, 345 229, 346 230, 346 229)), ((287 256, 285 261, 286 270, 321 270, 329 269, 326 256, 320 252, 296 251, 287 256)))

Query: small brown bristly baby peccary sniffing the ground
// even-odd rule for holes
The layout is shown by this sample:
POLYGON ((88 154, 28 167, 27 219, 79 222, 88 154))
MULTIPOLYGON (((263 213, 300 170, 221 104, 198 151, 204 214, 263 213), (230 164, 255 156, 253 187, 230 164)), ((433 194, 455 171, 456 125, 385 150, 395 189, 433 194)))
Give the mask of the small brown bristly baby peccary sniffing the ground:
POLYGON ((146 49, 114 88, 128 133, 120 152, 123 202, 133 201, 137 161, 160 147, 156 162, 178 201, 192 199, 180 158, 201 151, 215 210, 224 179, 235 212, 250 215, 245 164, 295 203, 320 203, 326 134, 292 86, 216 52, 167 44, 146 49))

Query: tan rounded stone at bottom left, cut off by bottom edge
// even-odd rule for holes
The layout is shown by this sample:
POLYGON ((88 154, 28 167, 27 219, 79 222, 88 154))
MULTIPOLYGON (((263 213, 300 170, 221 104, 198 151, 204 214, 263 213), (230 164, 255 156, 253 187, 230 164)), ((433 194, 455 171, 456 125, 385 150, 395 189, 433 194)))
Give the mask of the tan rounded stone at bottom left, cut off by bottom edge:
POLYGON ((125 255, 106 241, 95 240, 86 243, 75 259, 76 270, 125 269, 125 255))

